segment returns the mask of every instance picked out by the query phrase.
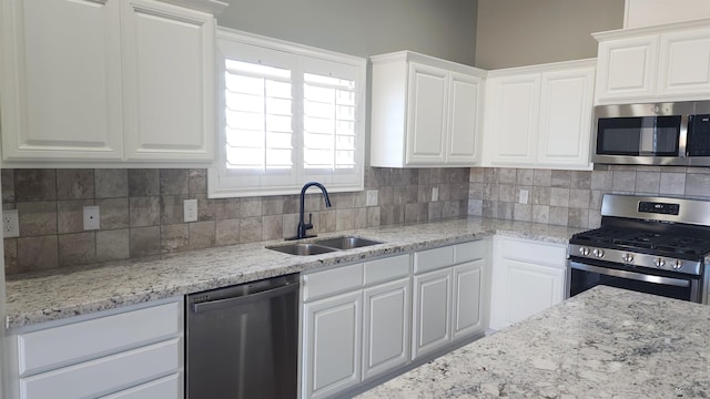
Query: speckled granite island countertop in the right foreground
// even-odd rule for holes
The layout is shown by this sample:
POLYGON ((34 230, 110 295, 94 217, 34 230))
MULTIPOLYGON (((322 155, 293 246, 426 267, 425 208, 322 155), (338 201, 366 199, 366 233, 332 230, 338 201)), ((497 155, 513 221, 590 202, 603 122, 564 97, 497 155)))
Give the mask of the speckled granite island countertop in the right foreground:
POLYGON ((710 306, 598 286, 363 393, 708 398, 710 306))

